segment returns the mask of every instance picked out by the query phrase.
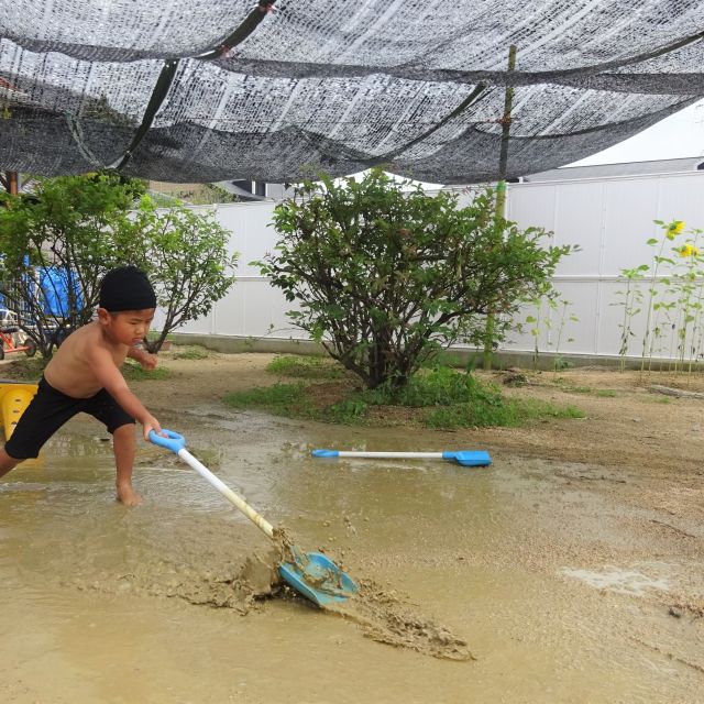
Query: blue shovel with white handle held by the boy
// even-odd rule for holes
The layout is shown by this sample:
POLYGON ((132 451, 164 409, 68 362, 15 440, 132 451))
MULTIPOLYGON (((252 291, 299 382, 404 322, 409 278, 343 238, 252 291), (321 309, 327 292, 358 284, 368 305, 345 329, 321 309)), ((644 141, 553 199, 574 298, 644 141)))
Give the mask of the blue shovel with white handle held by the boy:
MULTIPOLYGON (((163 430, 168 437, 150 432, 154 444, 170 450, 189 464, 200 476, 215 486, 231 504, 239 508, 262 532, 276 540, 272 524, 257 514, 245 501, 223 484, 207 466, 186 450, 186 439, 173 430, 163 430)), ((286 544, 290 561, 278 565, 282 579, 299 594, 318 606, 346 602, 358 591, 358 585, 332 560, 320 552, 302 552, 296 546, 286 544)))

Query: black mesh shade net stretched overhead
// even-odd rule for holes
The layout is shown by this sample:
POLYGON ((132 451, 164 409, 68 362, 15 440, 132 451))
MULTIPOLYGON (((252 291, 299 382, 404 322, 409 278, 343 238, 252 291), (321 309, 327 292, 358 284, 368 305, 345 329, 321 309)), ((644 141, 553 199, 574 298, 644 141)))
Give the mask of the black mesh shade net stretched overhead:
POLYGON ((469 184, 704 96, 688 0, 2 0, 0 37, 0 168, 43 175, 469 184))

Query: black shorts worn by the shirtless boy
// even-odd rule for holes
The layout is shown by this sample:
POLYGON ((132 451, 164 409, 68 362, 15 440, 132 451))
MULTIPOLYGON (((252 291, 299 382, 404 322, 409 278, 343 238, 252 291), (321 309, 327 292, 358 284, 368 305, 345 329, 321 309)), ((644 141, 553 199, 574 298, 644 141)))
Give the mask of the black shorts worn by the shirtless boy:
POLYGON ((105 388, 90 398, 73 398, 55 389, 42 376, 36 396, 20 417, 4 446, 6 452, 14 460, 38 457, 42 446, 67 420, 80 413, 97 418, 109 432, 134 422, 134 418, 105 388))

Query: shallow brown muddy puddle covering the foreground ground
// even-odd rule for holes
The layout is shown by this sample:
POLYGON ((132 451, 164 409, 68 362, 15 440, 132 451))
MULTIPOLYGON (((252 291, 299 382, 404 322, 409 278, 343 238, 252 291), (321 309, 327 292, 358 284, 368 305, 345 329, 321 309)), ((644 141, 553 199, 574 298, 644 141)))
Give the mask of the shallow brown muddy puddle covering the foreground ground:
POLYGON ((148 446, 144 504, 117 505, 109 443, 73 421, 0 484, 0 701, 701 701, 701 619, 662 606, 688 565, 636 559, 622 507, 554 481, 588 468, 312 460, 472 448, 221 414, 161 417, 363 603, 257 598, 272 558, 253 525, 148 446))

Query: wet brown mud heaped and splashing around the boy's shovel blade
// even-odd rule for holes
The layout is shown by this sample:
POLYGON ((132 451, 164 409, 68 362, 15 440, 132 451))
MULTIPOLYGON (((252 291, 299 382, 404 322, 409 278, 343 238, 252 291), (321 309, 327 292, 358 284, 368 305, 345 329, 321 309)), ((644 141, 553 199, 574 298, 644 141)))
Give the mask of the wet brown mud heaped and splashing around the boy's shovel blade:
MULTIPOLYGON (((184 553, 177 563, 145 560, 143 552, 139 557, 139 560, 128 560, 121 565, 127 570, 124 572, 94 571, 87 574, 84 569, 80 576, 57 580, 56 586, 112 596, 131 594, 177 598, 195 606, 232 609, 242 616, 261 612, 268 600, 275 598, 299 601, 305 606, 318 608, 280 578, 278 565, 282 562, 301 560, 294 538, 282 528, 276 529, 275 541, 267 549, 231 558, 209 569, 204 569, 204 561, 193 553, 184 553)), ((334 554, 329 557, 344 569, 334 554)), ((323 595, 339 593, 329 591, 329 584, 311 581, 304 569, 300 570, 300 576, 323 595)), ((359 573, 355 578, 359 585, 356 593, 350 594, 344 603, 330 603, 320 607, 320 610, 330 617, 341 617, 364 637, 380 644, 447 660, 474 659, 466 641, 454 636, 448 627, 433 622, 418 605, 410 604, 399 593, 385 590, 372 580, 360 579, 359 573)))

